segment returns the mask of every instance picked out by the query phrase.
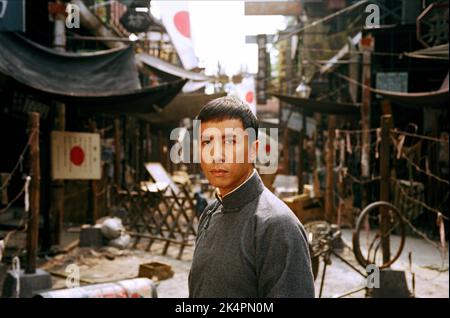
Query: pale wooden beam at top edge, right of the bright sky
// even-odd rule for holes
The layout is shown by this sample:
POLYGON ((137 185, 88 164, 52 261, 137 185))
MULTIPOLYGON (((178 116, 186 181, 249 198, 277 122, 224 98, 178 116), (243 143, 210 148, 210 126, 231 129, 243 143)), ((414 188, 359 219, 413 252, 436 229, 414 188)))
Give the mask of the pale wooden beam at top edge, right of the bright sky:
POLYGON ((246 1, 245 15, 293 15, 299 16, 299 1, 246 1))

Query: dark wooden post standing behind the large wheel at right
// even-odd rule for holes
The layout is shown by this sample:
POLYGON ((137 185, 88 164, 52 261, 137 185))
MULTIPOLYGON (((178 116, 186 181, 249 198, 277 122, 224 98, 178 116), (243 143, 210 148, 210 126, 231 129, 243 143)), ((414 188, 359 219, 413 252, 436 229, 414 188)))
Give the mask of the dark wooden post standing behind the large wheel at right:
MULTIPOLYGON (((390 130, 392 127, 392 116, 381 116, 381 149, 380 149, 380 201, 390 201, 390 130)), ((389 246, 389 215, 388 209, 381 208, 380 232, 383 262, 390 259, 389 246)))

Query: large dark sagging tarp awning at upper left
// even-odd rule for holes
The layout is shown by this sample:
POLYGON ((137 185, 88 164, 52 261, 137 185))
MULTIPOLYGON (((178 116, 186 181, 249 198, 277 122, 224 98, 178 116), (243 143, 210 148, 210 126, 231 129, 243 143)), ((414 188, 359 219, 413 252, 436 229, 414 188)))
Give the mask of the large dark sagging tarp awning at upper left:
POLYGON ((131 47, 94 53, 58 52, 0 32, 0 73, 35 94, 89 111, 152 112, 186 80, 141 89, 131 47))

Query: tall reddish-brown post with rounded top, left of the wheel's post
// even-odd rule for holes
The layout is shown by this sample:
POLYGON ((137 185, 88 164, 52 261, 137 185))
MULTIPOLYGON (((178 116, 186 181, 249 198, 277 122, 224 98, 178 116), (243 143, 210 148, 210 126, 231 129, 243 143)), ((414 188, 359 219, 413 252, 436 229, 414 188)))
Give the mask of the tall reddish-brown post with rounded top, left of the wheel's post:
MULTIPOLYGON (((362 107, 361 107, 361 128, 362 133, 362 151, 361 151, 361 178, 366 181, 370 177, 370 87, 371 87, 371 56, 374 48, 374 38, 369 34, 361 39, 361 48, 363 51, 362 66, 362 107)), ((368 204, 368 190, 366 187, 361 189, 361 204, 364 208, 368 204)))

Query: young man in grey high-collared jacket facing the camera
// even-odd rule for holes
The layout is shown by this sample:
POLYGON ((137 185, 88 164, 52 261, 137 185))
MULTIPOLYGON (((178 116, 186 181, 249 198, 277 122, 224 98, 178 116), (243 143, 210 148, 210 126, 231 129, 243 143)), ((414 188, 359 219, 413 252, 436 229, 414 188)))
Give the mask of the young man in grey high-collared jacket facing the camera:
POLYGON ((217 192, 200 217, 190 297, 314 297, 303 226, 254 169, 258 141, 238 136, 257 135, 255 115, 239 99, 221 97, 197 119, 201 167, 217 192))

